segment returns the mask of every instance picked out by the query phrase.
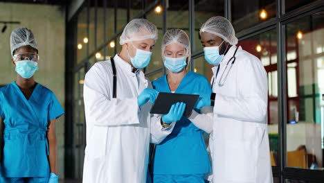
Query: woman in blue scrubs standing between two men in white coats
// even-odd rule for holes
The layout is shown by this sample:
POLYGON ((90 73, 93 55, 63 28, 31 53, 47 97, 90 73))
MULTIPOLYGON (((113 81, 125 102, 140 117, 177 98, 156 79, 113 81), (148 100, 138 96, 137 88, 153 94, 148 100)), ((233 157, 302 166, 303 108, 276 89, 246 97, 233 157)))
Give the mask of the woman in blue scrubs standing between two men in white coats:
MULTIPOLYGON (((188 71, 190 41, 183 30, 168 30, 162 40, 161 53, 168 74, 152 84, 158 92, 177 94, 211 94, 208 80, 188 71)), ((202 100, 201 100, 202 101, 202 100)), ((191 116, 182 116, 171 134, 156 145, 153 159, 153 182, 204 182, 210 173, 204 133, 212 131, 211 121, 200 118, 199 110, 210 101, 199 101, 191 116)))

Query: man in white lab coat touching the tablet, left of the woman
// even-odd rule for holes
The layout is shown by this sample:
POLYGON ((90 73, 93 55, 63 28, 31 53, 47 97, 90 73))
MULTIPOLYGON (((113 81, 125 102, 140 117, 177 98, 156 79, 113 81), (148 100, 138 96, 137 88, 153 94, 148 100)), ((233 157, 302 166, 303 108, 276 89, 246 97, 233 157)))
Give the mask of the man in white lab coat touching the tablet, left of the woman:
POLYGON ((178 103, 163 120, 150 116, 157 92, 140 69, 149 64, 156 39, 154 24, 134 19, 120 37, 122 51, 87 72, 83 182, 144 183, 150 142, 163 141, 183 115, 186 105, 178 103))

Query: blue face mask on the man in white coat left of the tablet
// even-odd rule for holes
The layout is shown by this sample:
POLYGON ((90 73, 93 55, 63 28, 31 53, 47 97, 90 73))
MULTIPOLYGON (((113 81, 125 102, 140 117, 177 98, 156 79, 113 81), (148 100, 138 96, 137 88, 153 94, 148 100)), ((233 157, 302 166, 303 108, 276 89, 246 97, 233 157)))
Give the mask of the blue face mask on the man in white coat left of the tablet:
MULTIPOLYGON (((134 48, 136 49, 135 46, 134 46, 134 48)), ((129 55, 129 53, 128 53, 128 55, 129 55)), ((129 56, 129 58, 133 64, 133 66, 136 69, 141 69, 141 68, 147 67, 147 65, 150 63, 151 56, 152 56, 152 52, 150 52, 150 51, 136 49, 136 54, 135 54, 134 58, 131 58, 130 56, 129 56)))

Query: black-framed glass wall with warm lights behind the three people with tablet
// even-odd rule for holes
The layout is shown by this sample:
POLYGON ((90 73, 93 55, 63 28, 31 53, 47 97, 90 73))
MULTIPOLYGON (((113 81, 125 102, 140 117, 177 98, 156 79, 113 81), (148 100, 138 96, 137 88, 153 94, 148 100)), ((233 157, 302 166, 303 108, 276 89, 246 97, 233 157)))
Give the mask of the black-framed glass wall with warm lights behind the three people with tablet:
MULTIPOLYGON (((82 87, 80 80, 93 64, 121 50, 120 34, 135 17, 152 21, 159 30, 151 62, 144 69, 147 78, 163 76, 163 31, 181 28, 192 42, 192 67, 188 68, 210 80, 213 73, 204 59, 199 28, 210 17, 227 17, 239 38, 238 45, 258 57, 268 74, 268 135, 275 182, 318 182, 324 149, 323 7, 321 0, 86 1, 75 15, 78 34, 73 38, 77 63, 74 85, 82 87)), ((78 103, 82 96, 78 92, 74 95, 74 107, 82 107, 78 103)), ((84 114, 71 110, 76 113, 74 128, 82 133, 76 124, 84 114)), ((78 135, 75 143, 85 134, 78 135)))

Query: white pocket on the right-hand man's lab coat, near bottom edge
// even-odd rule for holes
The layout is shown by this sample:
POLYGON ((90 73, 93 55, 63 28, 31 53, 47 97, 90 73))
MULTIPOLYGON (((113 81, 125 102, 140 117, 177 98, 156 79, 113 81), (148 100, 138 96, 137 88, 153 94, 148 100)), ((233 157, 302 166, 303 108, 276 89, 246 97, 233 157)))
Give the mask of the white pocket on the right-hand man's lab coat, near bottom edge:
POLYGON ((228 181, 255 182, 255 145, 253 141, 226 141, 225 177, 228 181))

